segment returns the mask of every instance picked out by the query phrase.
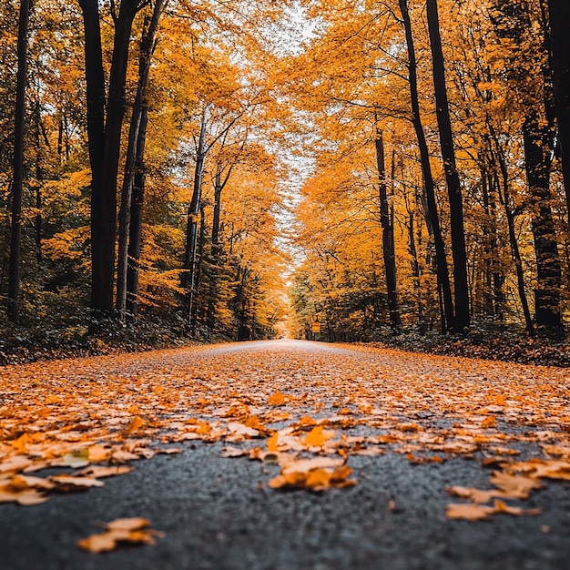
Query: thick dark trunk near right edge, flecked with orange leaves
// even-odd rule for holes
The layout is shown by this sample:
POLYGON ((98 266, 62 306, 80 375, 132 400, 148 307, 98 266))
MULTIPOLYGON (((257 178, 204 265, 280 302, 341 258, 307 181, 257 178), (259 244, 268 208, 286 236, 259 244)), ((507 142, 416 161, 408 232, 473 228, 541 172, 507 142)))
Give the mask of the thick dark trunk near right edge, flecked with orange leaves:
POLYGON ((526 178, 532 200, 534 251, 536 254, 536 289, 534 321, 538 330, 563 332, 560 307, 562 270, 555 236, 555 220, 550 202, 551 129, 539 123, 533 111, 523 127, 526 178))

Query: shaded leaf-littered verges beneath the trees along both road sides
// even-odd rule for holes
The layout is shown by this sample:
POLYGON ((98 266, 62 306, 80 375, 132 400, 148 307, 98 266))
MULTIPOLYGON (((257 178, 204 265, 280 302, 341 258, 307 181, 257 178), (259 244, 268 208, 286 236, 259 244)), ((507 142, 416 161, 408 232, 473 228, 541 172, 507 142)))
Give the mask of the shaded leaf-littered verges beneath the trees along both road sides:
MULTIPOLYGON (((27 327, 0 327, 0 366, 34 361, 51 361, 82 356, 101 356, 127 352, 151 351, 231 341, 222 334, 188 335, 179 319, 137 319, 125 326, 117 321, 99 323, 96 333, 89 333, 86 323, 74 323, 65 329, 31 323, 27 327)), ((435 331, 386 332, 376 341, 357 342, 363 346, 392 347, 404 351, 464 356, 492 361, 570 367, 570 339, 529 338, 524 331, 475 329, 465 335, 443 335, 435 331)))

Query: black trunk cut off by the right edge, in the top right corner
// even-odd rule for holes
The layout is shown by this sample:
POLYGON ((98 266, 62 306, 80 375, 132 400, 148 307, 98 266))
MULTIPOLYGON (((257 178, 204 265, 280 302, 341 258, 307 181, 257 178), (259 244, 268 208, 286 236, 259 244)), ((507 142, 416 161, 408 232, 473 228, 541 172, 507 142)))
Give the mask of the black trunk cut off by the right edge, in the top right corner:
POLYGON ((566 208, 570 219, 570 2, 548 0, 550 46, 555 86, 555 114, 562 157, 566 208))

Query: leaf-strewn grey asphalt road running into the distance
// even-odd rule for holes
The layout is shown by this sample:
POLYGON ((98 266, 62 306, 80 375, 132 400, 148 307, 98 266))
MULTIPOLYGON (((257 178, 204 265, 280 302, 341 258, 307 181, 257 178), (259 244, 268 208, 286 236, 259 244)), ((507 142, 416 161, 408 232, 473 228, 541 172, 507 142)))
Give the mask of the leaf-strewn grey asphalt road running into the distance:
POLYGON ((0 568, 567 569, 568 387, 561 369, 301 341, 5 367, 0 470, 17 448, 52 462, 31 474, 72 473, 53 466, 64 443, 106 446, 103 463, 127 448, 182 453, 127 461, 132 472, 44 504, 0 504, 0 568), (22 433, 35 439, 20 445, 22 433), (270 436, 266 461, 223 456, 263 457, 270 436), (357 483, 272 488, 293 455, 345 461, 357 483), (563 474, 504 503, 540 514, 446 516, 468 504, 448 487, 493 488, 494 471, 531 458, 563 474), (164 536, 77 548, 97 522, 131 516, 164 536))

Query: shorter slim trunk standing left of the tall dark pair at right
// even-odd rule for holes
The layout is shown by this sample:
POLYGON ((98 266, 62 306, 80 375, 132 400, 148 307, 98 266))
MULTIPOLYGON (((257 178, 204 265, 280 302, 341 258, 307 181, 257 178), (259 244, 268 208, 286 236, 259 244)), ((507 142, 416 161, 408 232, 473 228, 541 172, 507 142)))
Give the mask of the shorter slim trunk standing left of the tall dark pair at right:
POLYGON ((376 129, 376 165, 378 167, 378 183, 380 194, 380 219, 382 223, 382 254, 384 258, 384 271, 386 274, 386 290, 388 292, 388 310, 392 331, 397 331, 402 321, 398 306, 396 290, 396 254, 394 251, 394 230, 390 216, 388 192, 386 186, 386 167, 384 160, 384 140, 382 130, 376 129))

